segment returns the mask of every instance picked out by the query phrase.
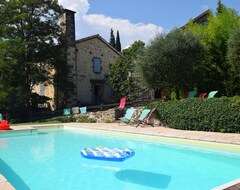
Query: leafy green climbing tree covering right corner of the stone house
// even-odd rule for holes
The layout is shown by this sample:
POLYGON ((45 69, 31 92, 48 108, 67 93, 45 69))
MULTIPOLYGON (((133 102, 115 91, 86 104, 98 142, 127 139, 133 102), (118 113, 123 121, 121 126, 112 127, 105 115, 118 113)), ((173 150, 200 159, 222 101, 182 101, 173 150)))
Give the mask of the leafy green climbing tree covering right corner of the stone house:
POLYGON ((129 48, 124 49, 123 56, 110 66, 109 82, 115 91, 129 100, 133 99, 132 96, 134 96, 134 92, 131 91, 132 84, 129 80, 129 74, 134 71, 134 60, 144 45, 141 41, 134 42, 129 48))

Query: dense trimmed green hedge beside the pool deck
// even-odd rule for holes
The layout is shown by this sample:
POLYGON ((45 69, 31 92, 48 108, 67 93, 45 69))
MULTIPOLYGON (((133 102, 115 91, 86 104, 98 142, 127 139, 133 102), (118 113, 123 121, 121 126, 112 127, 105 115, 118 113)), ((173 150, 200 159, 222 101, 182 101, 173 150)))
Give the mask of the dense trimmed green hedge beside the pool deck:
POLYGON ((240 97, 153 102, 160 121, 184 130, 240 132, 240 97))

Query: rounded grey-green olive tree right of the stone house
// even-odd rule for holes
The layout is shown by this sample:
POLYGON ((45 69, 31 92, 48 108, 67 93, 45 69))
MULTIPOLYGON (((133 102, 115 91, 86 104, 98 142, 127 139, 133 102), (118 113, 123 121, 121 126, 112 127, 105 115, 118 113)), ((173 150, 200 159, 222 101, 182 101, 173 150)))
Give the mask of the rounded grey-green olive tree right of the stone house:
POLYGON ((191 32, 174 29, 158 35, 139 56, 138 66, 147 86, 154 90, 193 88, 203 47, 191 32))

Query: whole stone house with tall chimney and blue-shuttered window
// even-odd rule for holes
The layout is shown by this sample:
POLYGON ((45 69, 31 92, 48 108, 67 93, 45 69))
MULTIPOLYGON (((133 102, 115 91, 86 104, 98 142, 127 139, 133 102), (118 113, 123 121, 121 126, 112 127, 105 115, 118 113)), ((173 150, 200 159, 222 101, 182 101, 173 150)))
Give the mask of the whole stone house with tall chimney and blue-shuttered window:
MULTIPOLYGON (((51 109, 97 105, 116 101, 116 94, 107 83, 110 64, 121 56, 99 34, 79 40, 75 39, 75 12, 65 10, 61 18, 65 32, 68 80, 74 85, 68 96, 60 97, 56 84, 40 84, 34 92, 51 98, 51 109)), ((54 72, 53 72, 54 73, 54 72)), ((52 81, 53 82, 53 81, 52 81)))

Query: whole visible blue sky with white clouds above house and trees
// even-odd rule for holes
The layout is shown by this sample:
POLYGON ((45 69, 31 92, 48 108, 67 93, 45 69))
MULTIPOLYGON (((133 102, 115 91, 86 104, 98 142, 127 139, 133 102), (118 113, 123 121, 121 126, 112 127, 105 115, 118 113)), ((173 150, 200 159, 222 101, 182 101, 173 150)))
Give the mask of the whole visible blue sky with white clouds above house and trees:
MULTIPOLYGON (((181 27, 207 9, 216 10, 218 0, 59 0, 76 11, 77 39, 100 34, 109 41, 110 30, 120 32, 122 48, 136 40, 148 43, 157 33, 181 27)), ((222 0, 240 12, 240 0, 222 0)))

